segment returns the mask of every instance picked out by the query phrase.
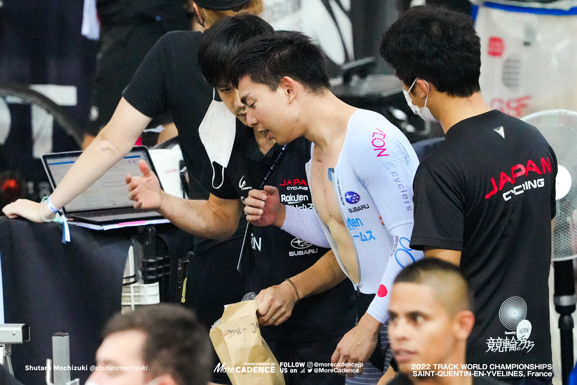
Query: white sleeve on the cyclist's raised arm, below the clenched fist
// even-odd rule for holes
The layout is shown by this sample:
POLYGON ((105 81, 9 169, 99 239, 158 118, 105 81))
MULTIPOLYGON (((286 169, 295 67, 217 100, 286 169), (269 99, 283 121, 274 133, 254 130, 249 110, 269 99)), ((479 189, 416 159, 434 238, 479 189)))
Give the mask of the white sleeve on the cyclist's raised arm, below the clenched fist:
POLYGON ((281 230, 310 244, 330 248, 316 211, 285 205, 286 216, 281 230))

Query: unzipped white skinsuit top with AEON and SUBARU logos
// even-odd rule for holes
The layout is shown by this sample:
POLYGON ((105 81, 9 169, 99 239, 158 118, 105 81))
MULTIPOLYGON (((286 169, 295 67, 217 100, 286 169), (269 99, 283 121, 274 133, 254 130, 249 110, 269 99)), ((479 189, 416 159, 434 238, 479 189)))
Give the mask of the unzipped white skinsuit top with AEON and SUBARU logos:
MULTIPOLYGON (((351 116, 339 160, 329 169, 329 180, 349 229, 356 261, 339 255, 331 232, 316 212, 285 206, 282 229, 314 245, 330 246, 357 290, 377 293, 367 312, 381 323, 388 319, 388 291, 396 275, 423 257, 422 251, 409 248, 413 177, 418 165, 409 140, 383 115, 357 110, 351 116)), ((307 175, 314 190, 310 161, 307 175)))

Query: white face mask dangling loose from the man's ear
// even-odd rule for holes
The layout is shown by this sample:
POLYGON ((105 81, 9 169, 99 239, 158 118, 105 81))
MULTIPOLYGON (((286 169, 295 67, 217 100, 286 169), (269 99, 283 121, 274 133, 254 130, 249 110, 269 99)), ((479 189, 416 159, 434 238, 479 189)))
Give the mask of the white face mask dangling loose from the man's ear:
POLYGON ((233 151, 237 117, 228 111, 223 102, 214 100, 214 92, 214 89, 212 89, 212 102, 208 107, 207 114, 204 115, 203 121, 198 126, 198 134, 200 134, 200 140, 207 150, 211 166, 212 162, 216 162, 223 167, 222 182, 218 187, 215 187, 215 170, 214 166, 212 166, 212 187, 218 189, 224 182, 224 167, 228 166, 228 160, 233 151))

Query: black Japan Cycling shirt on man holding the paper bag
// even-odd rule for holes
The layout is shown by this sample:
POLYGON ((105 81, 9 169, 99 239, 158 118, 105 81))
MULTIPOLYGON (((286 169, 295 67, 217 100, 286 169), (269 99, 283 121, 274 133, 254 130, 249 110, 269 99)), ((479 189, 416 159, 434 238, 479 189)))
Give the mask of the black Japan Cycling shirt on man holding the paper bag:
MULTIPOLYGON (((206 175, 205 185, 219 198, 244 201, 251 189, 259 188, 281 148, 275 144, 263 155, 254 139, 253 129, 237 120, 237 135, 224 173, 224 183, 218 189, 212 188, 212 180, 206 175)), ((283 204, 312 209, 305 171, 305 163, 310 160, 310 142, 301 137, 289 143, 285 151, 269 175, 267 185, 279 189, 283 204)), ((214 165, 217 175, 214 185, 218 186, 222 169, 218 164, 214 165)), ((329 251, 301 241, 276 226, 254 226, 252 234, 253 260, 248 268, 247 291, 257 294, 305 271, 329 251)), ((355 291, 347 279, 324 293, 302 298, 286 322, 263 327, 261 332, 264 337, 272 339, 318 341, 350 330, 356 315, 355 291)))

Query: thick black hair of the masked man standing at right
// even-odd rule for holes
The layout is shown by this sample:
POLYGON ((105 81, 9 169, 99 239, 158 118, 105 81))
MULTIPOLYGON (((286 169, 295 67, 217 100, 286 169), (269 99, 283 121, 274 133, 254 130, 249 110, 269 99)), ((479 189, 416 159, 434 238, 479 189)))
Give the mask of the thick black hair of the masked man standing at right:
POLYGON ((408 87, 418 77, 451 96, 481 91, 481 41, 473 19, 463 13, 410 8, 383 35, 380 54, 408 87))

